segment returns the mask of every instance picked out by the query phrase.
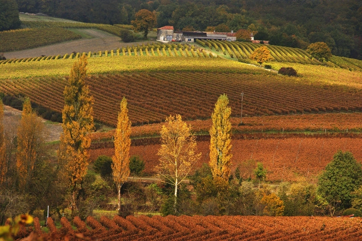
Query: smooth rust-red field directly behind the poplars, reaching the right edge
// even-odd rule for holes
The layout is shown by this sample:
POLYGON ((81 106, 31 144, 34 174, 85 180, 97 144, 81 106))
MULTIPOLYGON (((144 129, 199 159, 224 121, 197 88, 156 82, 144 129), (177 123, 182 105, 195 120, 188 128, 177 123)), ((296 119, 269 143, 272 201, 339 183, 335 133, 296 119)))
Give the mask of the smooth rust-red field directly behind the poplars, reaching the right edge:
MULTIPOLYGON (((202 153, 199 163, 208 163, 209 141, 199 141, 197 150, 202 153)), ((316 176, 332 160, 338 150, 351 151, 355 158, 362 161, 362 139, 350 137, 292 137, 268 139, 233 139, 232 140, 232 171, 237 166, 241 168, 244 178, 253 175, 253 167, 245 167, 248 160, 262 162, 268 169, 269 181, 299 181, 314 182, 316 176)), ((145 173, 154 174, 154 167, 158 164, 158 144, 131 146, 130 154, 139 155, 145 161, 145 173)), ((114 148, 100 148, 90 150, 90 160, 99 155, 114 154, 114 148)))

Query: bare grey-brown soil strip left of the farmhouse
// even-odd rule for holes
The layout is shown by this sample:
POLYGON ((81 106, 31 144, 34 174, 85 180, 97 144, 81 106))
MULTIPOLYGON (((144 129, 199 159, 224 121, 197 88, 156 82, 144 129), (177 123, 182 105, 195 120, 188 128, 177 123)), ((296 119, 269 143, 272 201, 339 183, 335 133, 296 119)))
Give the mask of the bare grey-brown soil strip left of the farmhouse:
POLYGON ((89 39, 77 39, 72 41, 67 41, 63 43, 56 43, 52 45, 42 46, 33 49, 26 49, 13 52, 5 52, 4 56, 6 59, 13 58, 29 58, 29 57, 38 57, 41 55, 64 55, 71 54, 72 52, 86 52, 89 51, 104 51, 104 50, 115 50, 120 47, 126 47, 128 45, 137 45, 145 42, 136 42, 136 43, 123 43, 121 38, 113 34, 98 30, 98 29, 78 29, 78 31, 83 32, 92 38, 89 39))

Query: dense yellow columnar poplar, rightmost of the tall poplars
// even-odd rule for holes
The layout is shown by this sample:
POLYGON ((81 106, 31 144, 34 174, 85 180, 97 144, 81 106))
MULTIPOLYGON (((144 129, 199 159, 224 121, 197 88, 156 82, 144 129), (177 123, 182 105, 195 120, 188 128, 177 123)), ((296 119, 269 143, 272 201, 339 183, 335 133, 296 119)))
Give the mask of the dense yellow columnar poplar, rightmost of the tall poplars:
POLYGON ((221 95, 211 114, 210 167, 216 181, 228 181, 230 176, 231 149, 231 108, 227 96, 221 95))

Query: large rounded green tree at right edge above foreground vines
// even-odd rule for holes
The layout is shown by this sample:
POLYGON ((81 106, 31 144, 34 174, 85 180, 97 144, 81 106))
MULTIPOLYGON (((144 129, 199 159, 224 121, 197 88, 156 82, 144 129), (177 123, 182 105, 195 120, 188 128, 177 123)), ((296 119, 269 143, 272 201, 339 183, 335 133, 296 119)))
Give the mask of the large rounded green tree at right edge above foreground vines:
POLYGON ((339 150, 318 178, 318 194, 335 208, 350 208, 353 192, 361 184, 361 163, 357 163, 351 152, 339 150))

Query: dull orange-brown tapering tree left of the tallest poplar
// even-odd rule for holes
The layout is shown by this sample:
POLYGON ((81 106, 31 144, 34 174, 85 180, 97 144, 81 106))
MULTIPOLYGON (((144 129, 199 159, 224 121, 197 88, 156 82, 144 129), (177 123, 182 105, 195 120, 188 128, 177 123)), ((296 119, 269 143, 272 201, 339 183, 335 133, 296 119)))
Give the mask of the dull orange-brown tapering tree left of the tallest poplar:
POLYGON ((17 129, 16 167, 19 177, 19 186, 28 188, 31 181, 39 152, 44 142, 44 124, 33 113, 29 98, 23 104, 21 120, 17 129))

